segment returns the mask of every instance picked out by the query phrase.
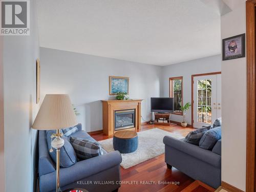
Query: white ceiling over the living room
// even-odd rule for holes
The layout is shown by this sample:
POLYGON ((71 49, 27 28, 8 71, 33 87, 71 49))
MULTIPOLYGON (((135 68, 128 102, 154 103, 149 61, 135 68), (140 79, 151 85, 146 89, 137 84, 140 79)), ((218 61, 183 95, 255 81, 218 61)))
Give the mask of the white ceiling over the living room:
POLYGON ((217 55, 221 13, 207 2, 37 0, 40 46, 159 66, 217 55))

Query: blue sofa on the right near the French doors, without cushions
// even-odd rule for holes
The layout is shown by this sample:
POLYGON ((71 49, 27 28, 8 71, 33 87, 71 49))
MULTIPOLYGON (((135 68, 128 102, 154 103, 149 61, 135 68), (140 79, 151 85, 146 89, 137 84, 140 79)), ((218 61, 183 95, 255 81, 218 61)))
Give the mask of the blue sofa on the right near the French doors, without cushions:
POLYGON ((165 136, 165 162, 189 177, 218 188, 221 185, 221 139, 212 151, 173 137, 165 136))

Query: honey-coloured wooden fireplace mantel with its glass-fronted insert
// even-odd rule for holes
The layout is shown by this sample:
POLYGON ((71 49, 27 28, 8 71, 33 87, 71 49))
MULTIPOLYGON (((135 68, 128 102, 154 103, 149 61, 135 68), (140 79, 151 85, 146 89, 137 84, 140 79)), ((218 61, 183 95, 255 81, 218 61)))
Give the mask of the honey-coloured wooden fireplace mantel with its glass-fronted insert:
POLYGON ((120 130, 140 129, 141 101, 102 100, 103 133, 112 136, 120 130))

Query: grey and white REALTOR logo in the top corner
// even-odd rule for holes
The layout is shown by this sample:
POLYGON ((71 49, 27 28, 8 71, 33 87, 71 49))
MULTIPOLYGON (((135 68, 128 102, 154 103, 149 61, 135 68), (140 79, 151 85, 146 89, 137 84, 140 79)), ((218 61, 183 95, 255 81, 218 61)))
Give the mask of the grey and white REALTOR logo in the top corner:
POLYGON ((1 0, 1 35, 29 35, 29 0, 1 0))

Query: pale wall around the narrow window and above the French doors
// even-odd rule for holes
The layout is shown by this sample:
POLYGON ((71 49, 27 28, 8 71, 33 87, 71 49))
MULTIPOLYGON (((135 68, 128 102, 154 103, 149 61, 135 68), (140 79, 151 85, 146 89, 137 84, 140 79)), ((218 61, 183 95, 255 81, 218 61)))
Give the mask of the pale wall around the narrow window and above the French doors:
MULTIPOLYGON (((183 103, 191 103, 191 75, 221 71, 221 55, 190 60, 164 66, 161 95, 169 96, 169 77, 183 76, 183 103)), ((172 120, 182 121, 181 115, 172 115, 172 120)), ((186 121, 191 124, 191 108, 186 112, 186 121)))

